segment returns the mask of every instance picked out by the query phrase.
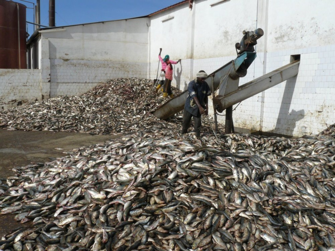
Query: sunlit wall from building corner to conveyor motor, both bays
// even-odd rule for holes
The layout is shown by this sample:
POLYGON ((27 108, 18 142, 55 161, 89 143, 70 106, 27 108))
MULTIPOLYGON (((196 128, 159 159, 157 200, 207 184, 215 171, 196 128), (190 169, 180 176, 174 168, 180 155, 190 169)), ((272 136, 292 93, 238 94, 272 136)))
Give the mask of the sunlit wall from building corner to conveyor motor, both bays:
POLYGON ((157 76, 161 47, 162 57, 168 54, 172 60, 182 60, 174 66, 172 81, 181 90, 199 70, 213 72, 236 57, 234 46, 241 40, 242 31, 256 25, 257 7, 252 6, 257 6, 257 0, 212 5, 217 1, 195 0, 192 9, 185 3, 151 17, 150 78, 157 76))

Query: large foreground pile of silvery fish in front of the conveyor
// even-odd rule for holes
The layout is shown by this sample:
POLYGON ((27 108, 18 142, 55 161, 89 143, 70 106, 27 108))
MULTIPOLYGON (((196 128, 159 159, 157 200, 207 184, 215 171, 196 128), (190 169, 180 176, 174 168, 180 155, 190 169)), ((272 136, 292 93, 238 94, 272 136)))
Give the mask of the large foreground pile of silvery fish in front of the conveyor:
POLYGON ((5 235, 0 249, 335 250, 333 127, 218 141, 181 135, 173 121, 151 125, 15 168, 1 180, 1 214, 31 226, 5 235))

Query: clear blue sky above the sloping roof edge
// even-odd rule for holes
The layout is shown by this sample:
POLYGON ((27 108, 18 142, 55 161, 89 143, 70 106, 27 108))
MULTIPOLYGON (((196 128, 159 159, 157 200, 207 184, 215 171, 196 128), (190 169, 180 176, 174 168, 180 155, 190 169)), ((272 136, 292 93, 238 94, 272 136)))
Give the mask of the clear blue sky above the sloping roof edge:
MULTIPOLYGON (((36 0, 14 0, 27 6, 27 21, 33 22, 36 0), (27 2, 29 1, 29 2, 27 2)), ((55 0, 56 26, 117 20, 148 15, 182 0, 55 0)), ((49 0, 40 0, 41 24, 49 25, 49 0)), ((28 25, 28 33, 33 33, 28 25)))

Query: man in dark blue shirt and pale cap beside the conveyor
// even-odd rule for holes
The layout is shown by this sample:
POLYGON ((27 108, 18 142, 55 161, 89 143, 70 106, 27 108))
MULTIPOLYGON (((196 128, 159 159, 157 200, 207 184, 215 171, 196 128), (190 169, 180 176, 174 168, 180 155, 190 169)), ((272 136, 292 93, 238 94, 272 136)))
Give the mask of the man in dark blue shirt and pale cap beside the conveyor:
POLYGON ((182 134, 187 132, 193 117, 195 135, 200 138, 201 115, 208 115, 208 96, 211 95, 209 86, 204 81, 206 78, 207 74, 204 71, 199 71, 196 74, 196 79, 188 84, 188 96, 182 118, 182 134))

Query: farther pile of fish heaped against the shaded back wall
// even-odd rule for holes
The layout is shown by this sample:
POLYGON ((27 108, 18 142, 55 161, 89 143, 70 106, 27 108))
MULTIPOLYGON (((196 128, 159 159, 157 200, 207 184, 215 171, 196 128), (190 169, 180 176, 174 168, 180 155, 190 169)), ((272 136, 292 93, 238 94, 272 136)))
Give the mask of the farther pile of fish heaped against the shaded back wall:
POLYGON ((56 97, 0 112, 0 128, 109 134, 163 126, 150 114, 165 101, 154 90, 152 80, 114 79, 80 96, 56 97))

